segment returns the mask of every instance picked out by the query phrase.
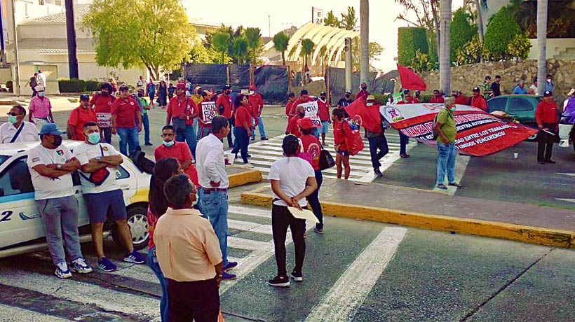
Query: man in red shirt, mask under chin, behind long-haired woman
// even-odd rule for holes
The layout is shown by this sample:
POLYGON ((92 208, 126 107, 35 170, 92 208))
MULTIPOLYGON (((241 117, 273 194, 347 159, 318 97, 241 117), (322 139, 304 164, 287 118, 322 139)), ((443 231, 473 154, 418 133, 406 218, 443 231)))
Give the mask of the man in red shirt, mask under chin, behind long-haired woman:
POLYGON ((191 156, 189 146, 184 142, 175 141, 175 129, 172 125, 165 125, 162 128, 162 144, 154 150, 156 162, 168 158, 174 158, 180 162, 182 171, 187 174, 196 186, 199 186, 198 172, 194 166, 194 159, 191 156))

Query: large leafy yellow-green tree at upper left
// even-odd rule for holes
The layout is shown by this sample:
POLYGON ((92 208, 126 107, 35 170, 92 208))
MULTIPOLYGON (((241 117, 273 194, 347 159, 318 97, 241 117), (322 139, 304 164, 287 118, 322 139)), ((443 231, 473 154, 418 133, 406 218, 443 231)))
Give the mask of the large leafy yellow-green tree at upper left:
POLYGON ((83 28, 95 38, 98 65, 145 66, 155 80, 189 57, 196 37, 178 0, 95 0, 83 28))

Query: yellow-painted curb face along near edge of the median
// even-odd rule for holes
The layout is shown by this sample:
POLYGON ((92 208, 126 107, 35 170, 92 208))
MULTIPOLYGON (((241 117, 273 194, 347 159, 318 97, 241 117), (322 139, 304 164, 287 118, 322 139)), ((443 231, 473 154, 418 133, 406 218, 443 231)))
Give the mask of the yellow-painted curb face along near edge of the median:
MULTIPOLYGON (((273 197, 260 193, 259 191, 261 190, 262 188, 242 193, 241 203, 271 207, 273 197)), ((336 202, 321 202, 321 207, 324 214, 334 217, 379 221, 381 223, 392 223, 419 229, 509 239, 544 246, 575 248, 575 232, 570 230, 555 230, 496 221, 419 214, 410 211, 336 202)))

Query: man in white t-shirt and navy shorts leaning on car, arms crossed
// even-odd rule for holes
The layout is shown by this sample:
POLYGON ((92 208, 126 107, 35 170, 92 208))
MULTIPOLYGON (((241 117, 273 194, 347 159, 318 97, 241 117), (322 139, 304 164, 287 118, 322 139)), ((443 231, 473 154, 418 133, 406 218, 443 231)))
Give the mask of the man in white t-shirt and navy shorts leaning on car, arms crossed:
POLYGON ((116 222, 116 227, 128 253, 124 262, 142 264, 144 256, 134 251, 132 235, 126 222, 126 204, 121 188, 116 184, 116 168, 123 158, 114 146, 100 143, 100 129, 94 122, 83 125, 86 141, 74 149, 74 157, 80 163, 80 181, 88 216, 92 225, 92 241, 96 248, 98 267, 104 272, 113 272, 118 267, 104 255, 102 229, 107 215, 116 222))

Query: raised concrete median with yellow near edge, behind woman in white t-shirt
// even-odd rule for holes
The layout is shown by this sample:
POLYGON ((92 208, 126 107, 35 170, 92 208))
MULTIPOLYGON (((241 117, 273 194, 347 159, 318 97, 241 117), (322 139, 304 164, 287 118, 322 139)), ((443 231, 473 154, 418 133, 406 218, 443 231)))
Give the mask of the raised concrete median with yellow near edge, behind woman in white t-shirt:
MULTIPOLYGON (((266 186, 241 202, 271 207, 272 195, 266 186)), ((334 179, 323 181, 320 201, 330 216, 575 248, 575 212, 566 209, 334 179)))

